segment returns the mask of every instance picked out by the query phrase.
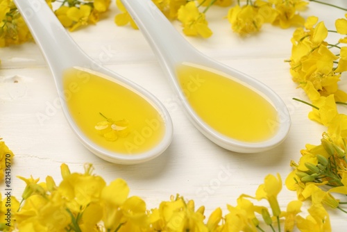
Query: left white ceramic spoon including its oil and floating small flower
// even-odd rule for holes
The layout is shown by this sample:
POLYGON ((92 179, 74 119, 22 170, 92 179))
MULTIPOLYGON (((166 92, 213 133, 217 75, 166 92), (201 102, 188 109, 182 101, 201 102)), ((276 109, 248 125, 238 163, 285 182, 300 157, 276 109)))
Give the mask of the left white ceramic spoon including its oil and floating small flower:
POLYGON ((171 117, 153 94, 89 58, 44 0, 14 3, 51 69, 69 126, 87 149, 112 163, 136 164, 159 156, 169 147, 173 134, 171 117), (133 113, 135 103, 149 113, 143 113, 143 117, 139 117, 142 111, 133 113), (106 115, 105 111, 126 118, 106 115))

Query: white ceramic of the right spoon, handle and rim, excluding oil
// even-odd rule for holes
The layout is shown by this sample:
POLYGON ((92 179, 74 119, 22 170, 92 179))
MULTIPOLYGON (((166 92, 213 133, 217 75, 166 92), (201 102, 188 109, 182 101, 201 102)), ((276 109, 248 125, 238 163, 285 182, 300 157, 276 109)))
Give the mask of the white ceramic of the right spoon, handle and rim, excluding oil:
MULTIPOLYGON (((223 148, 242 153, 265 151, 276 147, 276 145, 285 140, 289 132, 291 120, 285 103, 275 92, 266 87, 266 85, 260 83, 260 81, 218 63, 197 51, 182 35, 180 35, 180 33, 178 33, 178 31, 176 31, 176 28, 171 25, 169 20, 164 17, 151 0, 121 1, 124 3, 128 13, 130 13, 135 20, 137 26, 139 26, 139 29, 146 37, 149 44, 151 44, 163 69, 167 71, 171 83, 174 85, 174 90, 176 90, 180 101, 183 103, 183 107, 189 119, 191 119, 194 126, 196 126, 203 135, 223 148), (198 115, 196 110, 192 108, 187 97, 185 97, 186 93, 182 90, 178 81, 177 67, 185 63, 198 65, 198 67, 202 67, 203 69, 213 69, 215 72, 221 72, 222 76, 228 76, 234 80, 236 79, 237 82, 255 90, 255 92, 266 98, 278 113, 278 119, 274 122, 278 124, 276 133, 266 140, 249 142, 246 140, 239 140, 238 138, 230 138, 229 135, 226 136, 225 133, 220 133, 218 130, 212 128, 212 126, 201 119, 201 115, 198 115)), ((230 99, 225 99, 225 106, 227 106, 229 100, 230 99)), ((230 130, 232 130, 232 128, 230 130)))

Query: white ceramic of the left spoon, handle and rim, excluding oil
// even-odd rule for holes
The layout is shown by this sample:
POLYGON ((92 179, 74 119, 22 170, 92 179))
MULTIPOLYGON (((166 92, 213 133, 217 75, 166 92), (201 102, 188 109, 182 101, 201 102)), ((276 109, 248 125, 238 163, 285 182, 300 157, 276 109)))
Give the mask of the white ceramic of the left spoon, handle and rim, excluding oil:
MULTIPOLYGON (((96 154, 96 156, 112 163, 135 164, 151 160, 162 154, 162 152, 169 147, 173 134, 171 117, 158 99, 153 97, 151 93, 140 88, 139 85, 128 81, 126 78, 119 76, 119 74, 105 69, 99 65, 99 63, 89 58, 71 39, 44 0, 14 0, 14 2, 30 28, 44 58, 46 58, 46 62, 51 68, 60 100, 62 100, 61 105, 67 122, 69 122, 71 129, 76 133, 77 137, 87 149, 96 154), (67 102, 64 98, 65 90, 62 83, 62 75, 66 69, 71 67, 83 67, 91 69, 93 72, 106 75, 115 83, 128 88, 128 90, 133 91, 134 94, 139 95, 145 99, 145 101, 149 102, 151 106, 158 111, 158 117, 160 117, 164 123, 164 133, 160 142, 150 150, 130 155, 110 151, 90 140, 90 138, 81 131, 81 128, 76 125, 74 118, 71 117, 70 111, 67 108, 67 102)), ((126 99, 121 99, 121 101, 126 101, 126 99)), ((107 116, 111 117, 110 115, 107 116)), ((101 118, 101 121, 102 120, 101 118)), ((155 133, 155 131, 149 132, 155 133)), ((146 131, 147 134, 149 132, 146 131)))

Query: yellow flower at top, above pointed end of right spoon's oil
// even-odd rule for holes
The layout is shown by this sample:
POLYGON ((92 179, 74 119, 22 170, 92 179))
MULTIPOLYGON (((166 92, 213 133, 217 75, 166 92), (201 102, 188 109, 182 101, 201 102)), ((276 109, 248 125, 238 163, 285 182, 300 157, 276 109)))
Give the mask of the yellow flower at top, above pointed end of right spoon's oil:
POLYGON ((194 1, 189 1, 185 6, 180 6, 177 18, 182 22, 185 35, 201 35, 203 38, 209 38, 212 35, 205 14, 198 11, 194 1))

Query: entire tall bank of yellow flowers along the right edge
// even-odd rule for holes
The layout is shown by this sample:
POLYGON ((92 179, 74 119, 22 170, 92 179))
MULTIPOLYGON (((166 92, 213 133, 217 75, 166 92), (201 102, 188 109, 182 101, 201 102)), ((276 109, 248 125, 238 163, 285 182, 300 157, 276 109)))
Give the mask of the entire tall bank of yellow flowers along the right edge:
MULTIPOLYGON (((347 17, 347 14, 346 14, 347 17)), ((308 117, 326 126, 319 145, 307 144, 286 185, 298 199, 312 200, 312 205, 342 208, 347 194, 347 115, 339 113, 337 103, 346 104, 347 93, 339 89, 341 74, 347 71, 347 19, 337 19, 336 31, 344 38, 335 44, 325 41, 328 29, 317 17, 309 17, 305 28, 294 31, 291 51, 291 75, 312 103, 308 117)), ((299 100, 301 101, 301 100, 299 100)), ((327 215, 328 217, 328 215, 327 215)))

